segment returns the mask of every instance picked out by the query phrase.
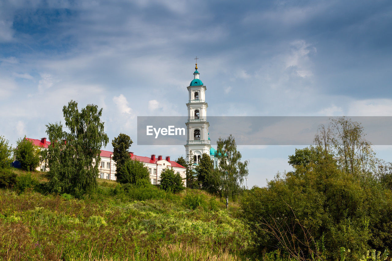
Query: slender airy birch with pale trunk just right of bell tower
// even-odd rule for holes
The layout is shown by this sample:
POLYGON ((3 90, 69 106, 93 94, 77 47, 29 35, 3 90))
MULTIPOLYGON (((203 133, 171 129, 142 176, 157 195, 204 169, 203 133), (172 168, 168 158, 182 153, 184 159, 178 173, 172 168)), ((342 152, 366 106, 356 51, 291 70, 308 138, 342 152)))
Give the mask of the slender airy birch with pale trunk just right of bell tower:
POLYGON ((241 161, 241 153, 237 150, 234 137, 219 138, 216 142, 216 155, 219 159, 219 168, 215 172, 215 189, 226 199, 226 208, 229 207, 229 197, 237 194, 240 184, 248 176, 248 161, 241 161))

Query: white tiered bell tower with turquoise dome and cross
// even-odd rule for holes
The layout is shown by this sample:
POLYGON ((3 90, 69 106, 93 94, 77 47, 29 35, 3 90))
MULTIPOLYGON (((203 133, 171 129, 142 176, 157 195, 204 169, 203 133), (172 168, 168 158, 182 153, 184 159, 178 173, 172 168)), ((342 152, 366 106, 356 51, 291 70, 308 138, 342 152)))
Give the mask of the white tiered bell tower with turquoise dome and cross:
MULTIPOLYGON (((197 61, 197 60, 196 60, 197 61)), ((207 89, 199 79, 200 73, 197 71, 197 63, 193 73, 194 79, 187 87, 189 92, 188 121, 187 125, 187 144, 185 152, 187 157, 192 150, 193 159, 188 159, 194 164, 198 164, 203 153, 210 154, 211 141, 208 137, 207 108, 205 102, 205 90, 207 89)))

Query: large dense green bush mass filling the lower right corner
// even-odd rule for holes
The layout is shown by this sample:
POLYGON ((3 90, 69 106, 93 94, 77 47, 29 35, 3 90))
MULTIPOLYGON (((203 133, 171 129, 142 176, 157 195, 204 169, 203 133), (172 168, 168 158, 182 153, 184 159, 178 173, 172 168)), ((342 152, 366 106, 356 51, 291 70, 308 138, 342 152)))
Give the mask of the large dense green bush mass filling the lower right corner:
POLYGON ((319 151, 296 150, 290 161, 303 155, 309 160, 292 161, 298 163, 294 172, 252 188, 241 199, 241 217, 259 250, 280 248, 292 256, 332 260, 340 258, 343 247, 350 249, 347 259, 359 260, 370 247, 390 248, 391 193, 375 181, 362 183, 319 151))

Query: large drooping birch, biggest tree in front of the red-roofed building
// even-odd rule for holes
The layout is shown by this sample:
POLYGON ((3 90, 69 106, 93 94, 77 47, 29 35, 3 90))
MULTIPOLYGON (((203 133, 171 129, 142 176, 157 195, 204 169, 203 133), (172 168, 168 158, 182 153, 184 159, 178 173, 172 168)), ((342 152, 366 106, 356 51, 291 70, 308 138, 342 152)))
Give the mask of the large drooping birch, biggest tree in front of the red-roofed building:
POLYGON ((79 111, 78 103, 71 100, 63 107, 63 114, 65 126, 46 125, 51 141, 46 155, 50 169, 47 178, 52 192, 81 197, 96 188, 100 149, 109 138, 103 131, 102 109, 97 105, 89 104, 79 111))

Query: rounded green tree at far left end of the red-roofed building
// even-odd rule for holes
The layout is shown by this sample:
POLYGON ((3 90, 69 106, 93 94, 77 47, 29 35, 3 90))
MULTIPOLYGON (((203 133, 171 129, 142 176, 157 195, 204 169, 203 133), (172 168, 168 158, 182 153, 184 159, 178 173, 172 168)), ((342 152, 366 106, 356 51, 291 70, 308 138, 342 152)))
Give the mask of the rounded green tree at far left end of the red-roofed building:
POLYGON ((27 140, 26 136, 18 140, 14 154, 24 170, 34 170, 40 164, 40 149, 27 140))

